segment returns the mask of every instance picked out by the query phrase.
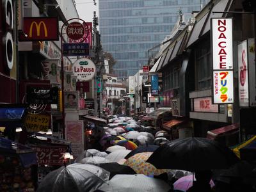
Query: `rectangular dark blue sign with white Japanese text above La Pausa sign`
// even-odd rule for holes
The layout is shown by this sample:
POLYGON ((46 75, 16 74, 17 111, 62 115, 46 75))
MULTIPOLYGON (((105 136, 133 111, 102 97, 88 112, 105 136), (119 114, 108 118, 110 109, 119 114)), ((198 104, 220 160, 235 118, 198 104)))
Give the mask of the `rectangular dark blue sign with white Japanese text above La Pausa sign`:
POLYGON ((89 56, 89 44, 63 44, 63 56, 89 56))

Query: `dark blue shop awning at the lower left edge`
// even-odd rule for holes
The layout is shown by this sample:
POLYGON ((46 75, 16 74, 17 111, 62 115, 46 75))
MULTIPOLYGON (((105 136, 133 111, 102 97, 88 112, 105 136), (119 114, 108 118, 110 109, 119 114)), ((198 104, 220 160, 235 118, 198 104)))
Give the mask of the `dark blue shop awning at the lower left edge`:
POLYGON ((35 150, 6 138, 0 138, 0 152, 5 155, 15 154, 19 156, 24 167, 36 164, 37 159, 35 150))

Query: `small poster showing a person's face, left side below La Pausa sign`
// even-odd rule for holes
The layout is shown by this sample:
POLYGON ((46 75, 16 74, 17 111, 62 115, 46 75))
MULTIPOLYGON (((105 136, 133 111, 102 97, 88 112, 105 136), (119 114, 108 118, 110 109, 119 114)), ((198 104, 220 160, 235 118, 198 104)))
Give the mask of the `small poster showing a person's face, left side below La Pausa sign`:
POLYGON ((78 109, 78 93, 65 92, 64 93, 65 109, 78 109))

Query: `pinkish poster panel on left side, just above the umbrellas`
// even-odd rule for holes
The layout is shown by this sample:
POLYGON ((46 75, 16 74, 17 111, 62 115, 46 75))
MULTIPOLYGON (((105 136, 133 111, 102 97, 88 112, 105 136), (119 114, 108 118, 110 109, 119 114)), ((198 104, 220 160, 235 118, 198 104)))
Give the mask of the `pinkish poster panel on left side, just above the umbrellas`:
POLYGON ((66 140, 71 142, 74 159, 84 151, 83 125, 83 120, 67 121, 66 124, 66 140))

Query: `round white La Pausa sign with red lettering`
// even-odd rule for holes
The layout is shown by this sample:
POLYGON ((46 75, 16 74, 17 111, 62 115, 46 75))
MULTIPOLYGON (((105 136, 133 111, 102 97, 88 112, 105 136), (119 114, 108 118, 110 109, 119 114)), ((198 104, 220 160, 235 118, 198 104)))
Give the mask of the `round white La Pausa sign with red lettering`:
POLYGON ((72 66, 73 73, 77 76, 77 79, 81 81, 88 81, 93 79, 96 73, 96 67, 93 61, 81 58, 76 60, 72 66))

